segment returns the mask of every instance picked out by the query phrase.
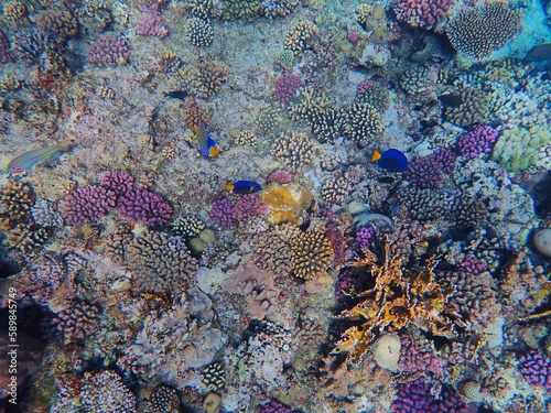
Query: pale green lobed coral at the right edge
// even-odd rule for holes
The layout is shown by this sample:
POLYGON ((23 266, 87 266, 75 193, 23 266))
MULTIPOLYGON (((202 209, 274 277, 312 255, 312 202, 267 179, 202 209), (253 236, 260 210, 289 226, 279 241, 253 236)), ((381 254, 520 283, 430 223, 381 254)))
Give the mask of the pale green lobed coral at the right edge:
POLYGON ((505 130, 497 141, 491 159, 510 172, 544 164, 545 146, 551 144, 547 126, 521 126, 505 130))

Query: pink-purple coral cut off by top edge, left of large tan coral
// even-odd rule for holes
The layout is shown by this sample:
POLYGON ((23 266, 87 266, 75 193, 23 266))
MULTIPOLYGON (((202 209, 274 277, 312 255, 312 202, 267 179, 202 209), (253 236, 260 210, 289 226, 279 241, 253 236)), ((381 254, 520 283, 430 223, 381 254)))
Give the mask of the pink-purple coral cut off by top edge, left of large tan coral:
POLYGON ((395 12, 401 22, 431 29, 452 4, 453 0, 395 0, 395 12))

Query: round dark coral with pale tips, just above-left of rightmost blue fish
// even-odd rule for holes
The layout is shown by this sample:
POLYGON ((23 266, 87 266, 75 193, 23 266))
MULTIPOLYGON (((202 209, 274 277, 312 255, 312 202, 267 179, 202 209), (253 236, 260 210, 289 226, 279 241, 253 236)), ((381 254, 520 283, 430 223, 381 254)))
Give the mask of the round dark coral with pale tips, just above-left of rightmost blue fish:
POLYGON ((348 112, 343 133, 356 143, 371 144, 385 129, 385 119, 369 104, 353 105, 348 112))

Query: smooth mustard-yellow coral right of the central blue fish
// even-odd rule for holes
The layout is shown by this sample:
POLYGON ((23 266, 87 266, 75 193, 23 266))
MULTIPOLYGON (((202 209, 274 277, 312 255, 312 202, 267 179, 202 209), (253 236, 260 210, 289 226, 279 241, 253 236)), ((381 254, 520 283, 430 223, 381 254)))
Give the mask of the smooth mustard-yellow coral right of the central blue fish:
POLYGON ((302 224, 302 215, 312 205, 312 193, 302 185, 270 184, 260 193, 260 200, 270 205, 268 221, 271 225, 283 222, 302 224))

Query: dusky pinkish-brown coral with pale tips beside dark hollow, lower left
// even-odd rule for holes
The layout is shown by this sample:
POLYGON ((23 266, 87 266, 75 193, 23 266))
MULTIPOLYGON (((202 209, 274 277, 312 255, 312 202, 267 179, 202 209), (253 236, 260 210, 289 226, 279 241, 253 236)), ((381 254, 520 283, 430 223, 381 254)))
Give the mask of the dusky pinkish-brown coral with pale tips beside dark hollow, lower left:
POLYGON ((99 328, 100 307, 86 301, 72 303, 69 308, 57 313, 54 323, 63 337, 63 343, 82 341, 99 328))

